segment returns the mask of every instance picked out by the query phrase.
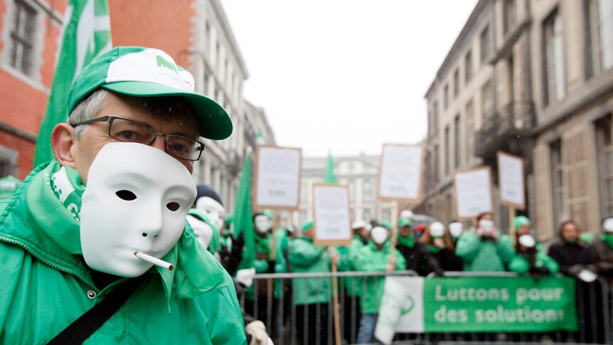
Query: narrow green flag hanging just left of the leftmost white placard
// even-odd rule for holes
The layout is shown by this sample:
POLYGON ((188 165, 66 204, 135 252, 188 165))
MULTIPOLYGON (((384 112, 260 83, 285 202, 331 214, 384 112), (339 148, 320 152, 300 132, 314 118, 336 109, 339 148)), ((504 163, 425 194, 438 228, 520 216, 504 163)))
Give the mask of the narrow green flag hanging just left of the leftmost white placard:
POLYGON ((245 156, 245 165, 242 166, 242 175, 234 203, 234 237, 242 233, 245 241, 240 268, 253 267, 255 261, 255 238, 251 212, 251 150, 249 150, 245 156))

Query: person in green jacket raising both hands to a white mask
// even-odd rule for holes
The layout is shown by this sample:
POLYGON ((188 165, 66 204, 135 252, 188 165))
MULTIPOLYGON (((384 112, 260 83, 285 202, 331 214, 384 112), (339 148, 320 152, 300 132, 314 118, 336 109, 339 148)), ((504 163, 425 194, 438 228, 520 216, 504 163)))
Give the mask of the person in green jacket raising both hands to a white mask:
POLYGON ((511 243, 501 239, 501 233, 491 221, 491 213, 477 217, 477 228, 462 234, 456 255, 464 260, 464 271, 503 272, 513 258, 511 243))

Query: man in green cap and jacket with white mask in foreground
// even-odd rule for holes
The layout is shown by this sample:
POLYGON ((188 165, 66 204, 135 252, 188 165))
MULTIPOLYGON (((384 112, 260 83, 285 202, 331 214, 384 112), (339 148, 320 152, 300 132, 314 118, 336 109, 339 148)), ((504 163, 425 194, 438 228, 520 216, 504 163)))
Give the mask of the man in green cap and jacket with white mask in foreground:
MULTIPOLYGON (((5 270, 0 281, 0 344, 46 344, 60 333, 55 338, 60 344, 68 344, 66 339, 75 336, 80 336, 76 342, 85 344, 246 344, 232 280, 201 247, 183 215, 189 208, 183 203, 190 198, 193 202, 196 196, 193 180, 191 191, 183 185, 174 189, 176 182, 169 179, 167 191, 180 202, 164 201, 166 196, 158 200, 147 190, 129 186, 128 181, 139 181, 137 178, 105 180, 105 174, 113 176, 117 164, 102 154, 110 152, 109 147, 144 150, 148 163, 158 159, 159 165, 139 172, 142 176, 154 178, 172 166, 191 179, 193 161, 204 149, 200 137, 225 139, 231 134, 227 112, 194 92, 191 74, 164 51, 140 47, 117 47, 95 58, 73 81, 67 102, 68 122, 58 124, 51 134, 55 159, 37 166, 11 201, 0 201, 0 208, 6 207, 0 216, 0 262, 5 270), (106 160, 97 160, 99 152, 106 160), (110 169, 100 168, 100 161, 108 162, 110 169), (97 179, 92 173, 98 174, 97 179), (102 233, 134 233, 135 238, 126 235, 127 243, 141 241, 150 248, 159 244, 156 238, 164 240, 161 248, 170 249, 156 252, 158 257, 153 258, 162 262, 155 264, 160 267, 140 261, 143 255, 151 258, 144 245, 137 251, 125 249, 128 255, 123 258, 119 250, 126 243, 117 243, 117 253, 105 256, 83 237, 88 233, 85 220, 97 218, 84 217, 82 206, 90 202, 86 196, 92 196, 95 206, 93 196, 102 192, 92 185, 99 180, 102 191, 110 186, 118 189, 114 198, 105 200, 108 210, 124 214, 122 208, 138 205, 145 210, 125 217, 98 211, 98 218, 131 224, 121 231, 106 228, 102 233), (178 228, 169 227, 169 219, 178 228), (91 249, 86 250, 83 241, 91 249), (129 262, 144 271, 122 273, 112 265, 98 268, 105 267, 105 258, 129 262), (122 290, 125 293, 120 294, 122 290), (95 307, 120 296, 126 302, 119 302, 117 311, 91 331, 68 328, 77 319, 93 324, 84 314, 90 311, 100 316, 102 311, 95 307)), ((129 161, 120 159, 126 152, 112 152, 119 161, 129 161)), ((129 162, 125 166, 137 169, 129 162)), ((159 188, 144 179, 139 182, 159 188)), ((98 208, 88 207, 95 215, 98 208)), ((105 222, 92 225, 96 226, 105 229, 105 222)), ((112 240, 110 236, 108 241, 112 240)))

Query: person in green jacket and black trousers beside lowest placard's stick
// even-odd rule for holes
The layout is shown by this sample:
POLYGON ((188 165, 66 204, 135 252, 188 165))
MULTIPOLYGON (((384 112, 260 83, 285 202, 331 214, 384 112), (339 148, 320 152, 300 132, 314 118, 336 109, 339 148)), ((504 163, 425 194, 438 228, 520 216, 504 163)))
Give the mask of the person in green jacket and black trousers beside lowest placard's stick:
MULTIPOLYGON (((316 247, 313 236, 313 222, 307 221, 302 225, 302 236, 289 242, 288 259, 292 272, 330 272, 332 260, 338 260, 334 255, 331 257, 326 248, 316 247)), ((292 290, 298 338, 302 344, 328 344, 330 278, 296 278, 292 290)))

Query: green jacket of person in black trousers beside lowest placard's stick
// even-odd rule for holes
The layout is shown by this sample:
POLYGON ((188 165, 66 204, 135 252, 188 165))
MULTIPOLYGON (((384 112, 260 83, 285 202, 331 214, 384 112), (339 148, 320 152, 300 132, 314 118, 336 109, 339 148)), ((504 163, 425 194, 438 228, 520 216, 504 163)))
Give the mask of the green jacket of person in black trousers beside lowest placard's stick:
MULTIPOLYGON (((310 238, 289 241, 289 265, 294 273, 330 272, 330 255, 324 247, 315 247, 310 238)), ((330 278, 297 278, 293 281, 294 304, 328 303, 330 278)))

